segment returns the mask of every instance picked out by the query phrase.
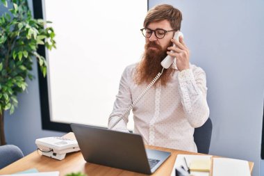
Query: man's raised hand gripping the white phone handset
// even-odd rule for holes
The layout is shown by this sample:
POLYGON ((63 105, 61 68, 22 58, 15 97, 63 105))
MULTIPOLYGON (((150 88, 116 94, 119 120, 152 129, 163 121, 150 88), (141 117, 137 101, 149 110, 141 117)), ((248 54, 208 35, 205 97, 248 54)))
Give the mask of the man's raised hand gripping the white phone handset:
POLYGON ((180 36, 179 41, 172 39, 176 47, 168 47, 167 49, 174 51, 174 53, 167 51, 167 54, 173 57, 176 57, 176 64, 177 68, 182 71, 185 69, 189 69, 189 54, 190 51, 188 47, 186 47, 185 43, 183 42, 183 37, 180 36))

